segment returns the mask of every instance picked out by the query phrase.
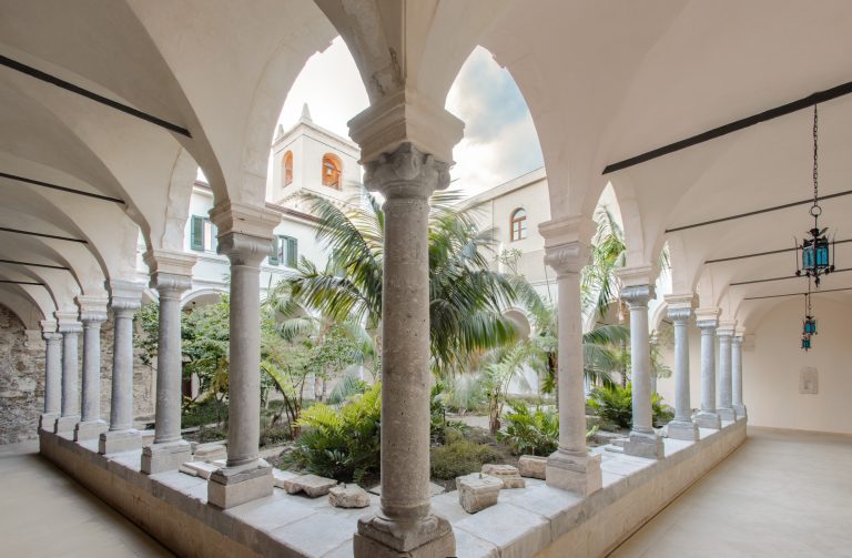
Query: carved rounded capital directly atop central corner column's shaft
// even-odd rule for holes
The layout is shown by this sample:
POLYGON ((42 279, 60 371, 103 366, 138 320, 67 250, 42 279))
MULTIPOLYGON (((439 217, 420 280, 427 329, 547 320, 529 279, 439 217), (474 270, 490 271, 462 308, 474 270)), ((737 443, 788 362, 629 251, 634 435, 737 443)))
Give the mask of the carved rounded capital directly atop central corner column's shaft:
POLYGON ((364 184, 387 199, 425 200, 449 185, 449 164, 404 142, 365 165, 364 184))

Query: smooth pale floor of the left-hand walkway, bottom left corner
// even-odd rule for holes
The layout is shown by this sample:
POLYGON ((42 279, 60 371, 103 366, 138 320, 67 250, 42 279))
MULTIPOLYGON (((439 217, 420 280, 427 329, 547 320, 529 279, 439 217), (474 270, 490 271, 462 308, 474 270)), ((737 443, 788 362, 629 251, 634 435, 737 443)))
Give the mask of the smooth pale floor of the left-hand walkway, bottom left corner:
POLYGON ((37 452, 36 440, 0 446, 0 556, 173 556, 37 452))

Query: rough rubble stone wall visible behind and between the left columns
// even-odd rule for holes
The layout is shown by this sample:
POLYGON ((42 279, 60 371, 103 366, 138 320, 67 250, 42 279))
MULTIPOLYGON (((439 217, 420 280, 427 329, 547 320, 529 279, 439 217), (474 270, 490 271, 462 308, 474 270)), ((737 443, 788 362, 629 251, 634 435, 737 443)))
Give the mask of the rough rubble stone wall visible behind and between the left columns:
MULTIPOLYGON (((101 416, 110 417, 112 389, 112 318, 101 328, 101 416)), ((83 336, 79 366, 82 382, 83 336)), ((133 359, 133 414, 153 417, 155 371, 133 359)), ((80 393, 82 393, 82 386, 80 393)), ((21 321, 0 305, 0 444, 36 438, 44 408, 44 342, 41 332, 27 332, 21 321)))

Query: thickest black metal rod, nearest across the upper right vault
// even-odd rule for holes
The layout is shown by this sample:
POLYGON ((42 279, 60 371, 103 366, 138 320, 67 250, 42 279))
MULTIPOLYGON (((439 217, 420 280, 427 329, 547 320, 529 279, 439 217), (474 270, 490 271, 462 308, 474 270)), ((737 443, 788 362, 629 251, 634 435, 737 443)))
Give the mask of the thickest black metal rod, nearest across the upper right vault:
POLYGON ((607 165, 606 169, 604 169, 602 174, 609 174, 611 172, 620 171, 622 169, 628 169, 639 163, 645 163, 646 161, 651 161, 653 159, 658 159, 663 155, 674 153, 676 151, 684 150, 687 148, 691 148, 692 145, 698 145, 699 143, 704 143, 710 140, 721 138, 722 135, 728 135, 739 130, 753 126, 754 124, 760 124, 761 122, 767 122, 769 120, 773 120, 779 116, 791 114, 802 109, 809 109, 814 104, 824 103, 825 101, 831 101, 832 99, 848 95, 850 93, 852 93, 852 81, 848 83, 843 83, 842 85, 838 85, 835 88, 826 89, 825 91, 818 91, 816 93, 811 93, 810 95, 799 99, 797 101, 782 104, 781 106, 775 106, 774 109, 770 109, 768 111, 763 111, 758 114, 752 114, 751 116, 747 116, 744 119, 736 120, 733 122, 721 125, 719 128, 713 128, 712 130, 708 130, 707 132, 702 132, 691 138, 687 138, 686 140, 680 140, 674 143, 669 143, 668 145, 663 145, 662 148, 657 148, 655 150, 647 151, 640 155, 631 156, 630 159, 625 159, 623 161, 619 161, 618 163, 609 164, 607 165))

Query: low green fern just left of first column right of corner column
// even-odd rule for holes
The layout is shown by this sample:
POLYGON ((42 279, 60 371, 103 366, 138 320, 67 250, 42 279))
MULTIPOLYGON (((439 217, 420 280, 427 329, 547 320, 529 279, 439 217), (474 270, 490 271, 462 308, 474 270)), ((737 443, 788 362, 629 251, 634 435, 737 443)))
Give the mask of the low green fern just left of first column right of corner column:
POLYGON ((559 445, 559 415, 556 410, 537 407, 530 412, 523 400, 509 403, 511 410, 504 415, 506 429, 500 438, 516 455, 547 456, 556 452, 559 445))

